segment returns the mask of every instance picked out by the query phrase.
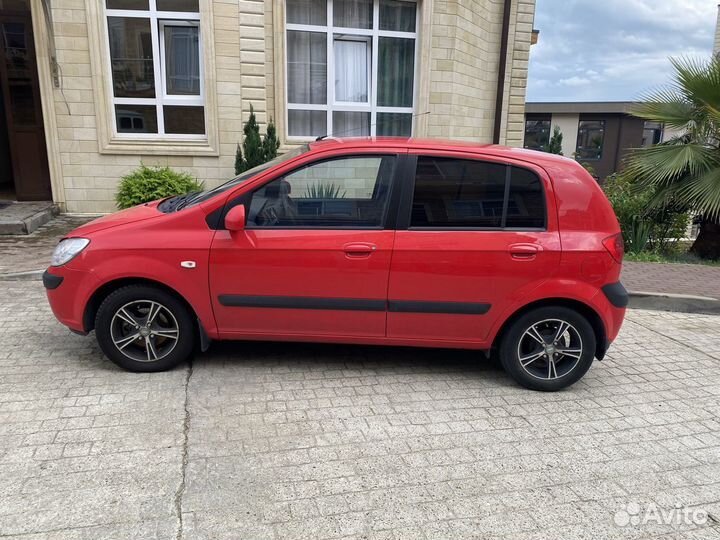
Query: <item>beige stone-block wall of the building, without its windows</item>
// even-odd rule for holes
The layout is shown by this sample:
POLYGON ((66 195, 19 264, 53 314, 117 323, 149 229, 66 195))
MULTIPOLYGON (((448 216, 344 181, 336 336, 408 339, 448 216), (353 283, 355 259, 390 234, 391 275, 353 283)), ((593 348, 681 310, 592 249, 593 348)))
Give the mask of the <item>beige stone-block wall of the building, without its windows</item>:
MULTIPOLYGON (((49 32, 40 0, 32 0, 54 199, 64 202, 68 212, 113 211, 119 178, 141 162, 187 171, 213 187, 233 175, 235 148, 242 141, 251 103, 261 129, 273 117, 282 137, 284 92, 276 86, 276 81, 281 85, 277 75, 283 67, 282 51, 276 50, 281 2, 201 0, 212 26, 212 61, 205 71, 208 88, 214 89, 211 109, 216 111, 208 129, 216 140, 212 151, 163 154, 142 146, 108 150, 103 140, 112 116, 98 60, 107 54, 98 38, 103 31, 98 28, 99 1, 53 0, 49 32), (50 75, 50 42, 62 74, 59 88, 50 75)), ((422 21, 418 46, 430 48, 418 55, 417 91, 422 99, 416 113, 429 113, 420 117, 415 135, 491 142, 503 2, 421 2, 428 20, 422 21)), ((514 0, 512 6, 501 142, 514 146, 522 145, 524 132, 534 4, 514 0)))

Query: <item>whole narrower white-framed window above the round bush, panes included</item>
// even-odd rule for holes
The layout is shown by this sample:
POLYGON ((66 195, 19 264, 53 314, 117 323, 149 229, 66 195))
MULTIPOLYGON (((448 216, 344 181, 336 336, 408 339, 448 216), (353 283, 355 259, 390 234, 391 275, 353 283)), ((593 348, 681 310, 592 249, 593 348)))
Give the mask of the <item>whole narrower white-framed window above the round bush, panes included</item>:
POLYGON ((199 0, 105 0, 121 137, 205 138, 199 0))

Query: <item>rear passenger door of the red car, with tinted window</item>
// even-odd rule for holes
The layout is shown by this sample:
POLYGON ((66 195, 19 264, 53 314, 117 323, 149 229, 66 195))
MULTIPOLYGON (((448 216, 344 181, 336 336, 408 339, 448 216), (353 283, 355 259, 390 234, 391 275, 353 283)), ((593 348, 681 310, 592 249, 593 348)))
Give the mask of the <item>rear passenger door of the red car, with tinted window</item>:
POLYGON ((388 337, 483 343, 505 307, 558 268, 552 185, 540 168, 475 154, 408 159, 388 337))

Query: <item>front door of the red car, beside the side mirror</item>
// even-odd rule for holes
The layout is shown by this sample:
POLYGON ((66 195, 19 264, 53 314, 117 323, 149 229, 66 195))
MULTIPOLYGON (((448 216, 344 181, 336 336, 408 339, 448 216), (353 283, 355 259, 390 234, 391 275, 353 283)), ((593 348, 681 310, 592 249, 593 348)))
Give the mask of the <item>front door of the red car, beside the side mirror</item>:
POLYGON ((382 337, 395 154, 320 159, 243 194, 245 230, 219 230, 210 290, 223 337, 382 337))

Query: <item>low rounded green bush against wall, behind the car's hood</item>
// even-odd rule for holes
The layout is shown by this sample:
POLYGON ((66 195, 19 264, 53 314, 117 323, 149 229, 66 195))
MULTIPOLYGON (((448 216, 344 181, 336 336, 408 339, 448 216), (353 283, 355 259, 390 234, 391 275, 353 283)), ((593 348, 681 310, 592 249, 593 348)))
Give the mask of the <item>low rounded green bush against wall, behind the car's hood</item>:
POLYGON ((140 165, 123 176, 115 201, 120 209, 156 201, 172 195, 202 191, 203 184, 184 172, 169 167, 146 167, 140 165))

